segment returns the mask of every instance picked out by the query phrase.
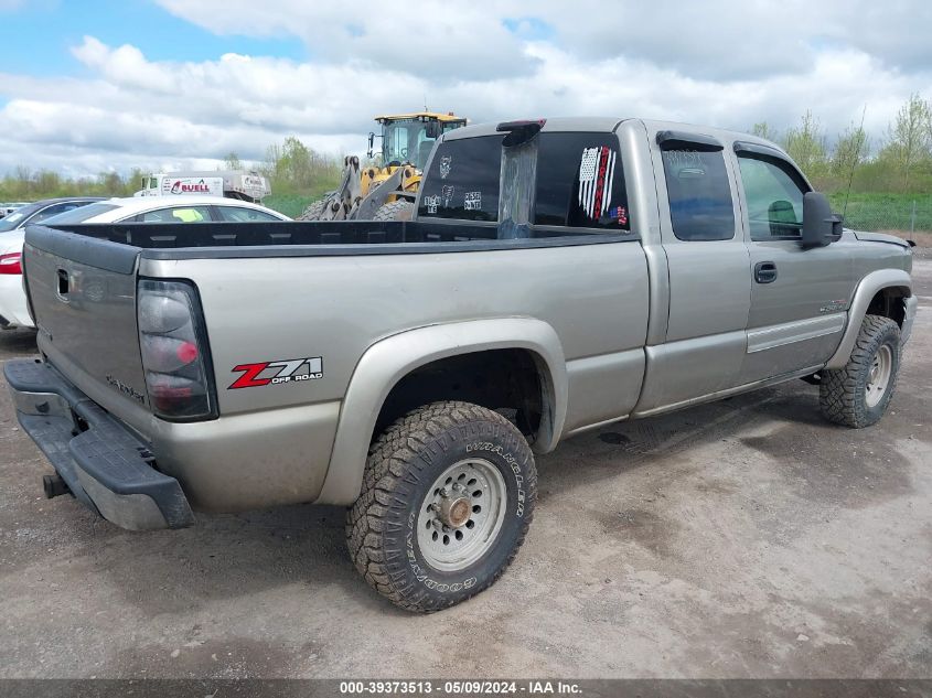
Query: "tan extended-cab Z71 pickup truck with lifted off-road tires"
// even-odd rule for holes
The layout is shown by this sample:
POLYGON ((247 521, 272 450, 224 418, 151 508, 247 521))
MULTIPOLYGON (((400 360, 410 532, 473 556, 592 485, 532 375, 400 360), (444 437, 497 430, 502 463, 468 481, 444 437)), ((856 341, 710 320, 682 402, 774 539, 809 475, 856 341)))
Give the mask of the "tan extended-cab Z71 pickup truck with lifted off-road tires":
POLYGON ((23 260, 50 495, 136 529, 346 505, 413 611, 503 572, 560 439, 794 378, 876 422, 915 313, 909 246, 774 144, 640 119, 446 133, 410 222, 33 226, 23 260))

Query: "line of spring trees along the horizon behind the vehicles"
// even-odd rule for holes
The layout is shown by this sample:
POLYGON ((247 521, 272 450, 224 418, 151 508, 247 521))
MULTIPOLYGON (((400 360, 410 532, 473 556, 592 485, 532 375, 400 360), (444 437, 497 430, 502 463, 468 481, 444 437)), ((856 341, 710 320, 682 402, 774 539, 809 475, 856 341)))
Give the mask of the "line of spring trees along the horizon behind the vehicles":
MULTIPOLYGON (((829 139, 819 120, 807 110, 799 124, 776 131, 767 121, 751 131, 782 146, 825 192, 878 193, 932 192, 932 105, 914 94, 900 107, 887 131, 869 135, 851 124, 829 139)), ((258 170, 275 195, 315 197, 333 189, 340 179, 341 158, 320 153, 296 137, 268 148, 261 162, 244 163, 236 153, 224 162, 228 169, 258 170)), ((52 170, 19 167, 0 179, 0 201, 35 201, 52 196, 131 196, 148 174, 101 172, 97 176, 66 178, 52 170)))

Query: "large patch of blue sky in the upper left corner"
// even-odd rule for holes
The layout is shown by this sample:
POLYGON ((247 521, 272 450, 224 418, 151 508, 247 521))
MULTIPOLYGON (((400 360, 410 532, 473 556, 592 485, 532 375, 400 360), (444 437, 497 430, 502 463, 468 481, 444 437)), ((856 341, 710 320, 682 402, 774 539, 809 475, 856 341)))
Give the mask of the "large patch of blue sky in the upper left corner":
POLYGON ((83 74, 71 49, 85 35, 111 45, 132 44, 152 61, 207 61, 224 53, 310 57, 296 36, 217 35, 148 0, 36 0, 0 18, 0 69, 23 75, 83 74))

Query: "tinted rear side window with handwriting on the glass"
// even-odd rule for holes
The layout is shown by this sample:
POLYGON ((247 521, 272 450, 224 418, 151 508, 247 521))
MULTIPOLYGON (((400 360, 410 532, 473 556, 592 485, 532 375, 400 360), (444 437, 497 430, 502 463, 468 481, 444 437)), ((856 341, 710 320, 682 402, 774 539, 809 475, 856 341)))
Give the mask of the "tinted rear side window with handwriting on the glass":
POLYGON ((721 150, 664 150, 673 233, 681 240, 735 237, 731 187, 721 150))

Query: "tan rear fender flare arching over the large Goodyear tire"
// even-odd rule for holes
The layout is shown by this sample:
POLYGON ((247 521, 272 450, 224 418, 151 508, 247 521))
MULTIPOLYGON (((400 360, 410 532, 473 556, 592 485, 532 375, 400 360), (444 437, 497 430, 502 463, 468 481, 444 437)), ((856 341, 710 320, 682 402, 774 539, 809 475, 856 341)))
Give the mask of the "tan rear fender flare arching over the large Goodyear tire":
POLYGON ((376 342, 356 364, 315 504, 355 502, 378 412, 401 378, 440 358, 501 348, 524 348, 534 354, 544 391, 544 415, 534 450, 546 453, 556 448, 566 419, 567 373, 563 345, 549 324, 532 318, 503 318, 409 330, 376 342))

